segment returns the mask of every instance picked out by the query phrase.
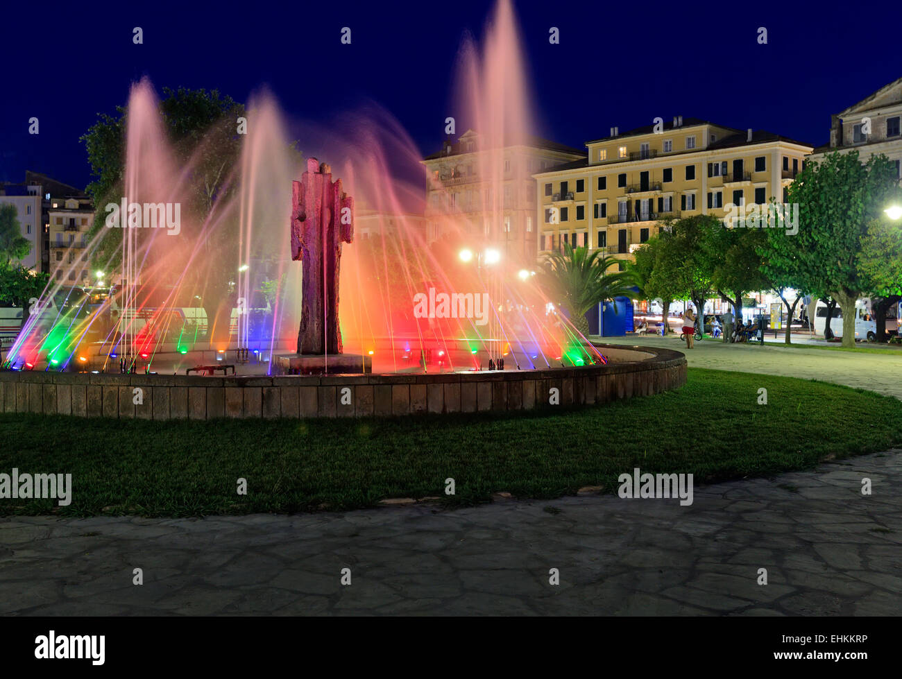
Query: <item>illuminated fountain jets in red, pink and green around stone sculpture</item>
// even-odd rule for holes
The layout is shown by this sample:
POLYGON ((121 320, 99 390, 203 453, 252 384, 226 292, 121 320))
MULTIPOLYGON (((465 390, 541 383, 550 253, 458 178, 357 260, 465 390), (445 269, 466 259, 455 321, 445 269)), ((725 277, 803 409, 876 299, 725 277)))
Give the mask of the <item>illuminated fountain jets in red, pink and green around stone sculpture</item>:
POLYGON ((431 234, 422 188, 425 179, 443 189, 443 180, 425 176, 423 153, 378 106, 324 130, 287 120, 263 94, 247 107, 246 134, 235 135, 234 118, 222 121, 184 157, 151 84, 135 84, 122 195, 110 197, 122 206, 121 224, 108 220, 87 244, 86 265, 108 284, 51 281, 5 367, 132 380, 372 372, 358 379, 382 373, 397 384, 399 375, 597 372, 609 361, 653 357, 590 344, 533 282, 536 262, 497 246, 504 149, 532 130, 518 44, 507 0, 482 53, 465 42, 458 117, 480 134, 476 173, 488 189, 477 192, 475 212, 483 222, 474 229, 460 206, 447 205, 429 217, 431 234), (234 162, 217 174, 210 151, 233 143, 234 162))

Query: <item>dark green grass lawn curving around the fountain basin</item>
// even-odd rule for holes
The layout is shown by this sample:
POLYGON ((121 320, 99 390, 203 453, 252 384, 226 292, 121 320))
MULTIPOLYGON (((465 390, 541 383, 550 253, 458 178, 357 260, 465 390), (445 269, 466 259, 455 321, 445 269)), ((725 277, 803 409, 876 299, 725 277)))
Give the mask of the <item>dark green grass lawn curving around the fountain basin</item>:
POLYGON ((902 443, 902 401, 744 372, 689 370, 685 388, 557 413, 365 420, 142 420, 0 414, 0 473, 71 473, 73 499, 0 500, 0 514, 192 516, 554 498, 617 477, 695 483, 808 469, 902 443), (758 404, 759 388, 768 405, 758 404), (687 438, 697 445, 686 446, 687 438), (247 479, 248 494, 236 494, 247 479), (444 496, 446 478, 456 495, 444 496))

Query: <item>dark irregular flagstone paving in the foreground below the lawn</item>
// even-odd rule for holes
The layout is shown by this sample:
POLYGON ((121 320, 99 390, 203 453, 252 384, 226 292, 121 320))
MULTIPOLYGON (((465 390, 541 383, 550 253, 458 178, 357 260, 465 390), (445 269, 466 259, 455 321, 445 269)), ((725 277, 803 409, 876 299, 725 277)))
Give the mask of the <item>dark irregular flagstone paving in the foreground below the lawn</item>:
POLYGON ((899 615, 900 486, 895 450, 696 488, 688 507, 591 496, 456 511, 2 518, 0 614, 899 615))

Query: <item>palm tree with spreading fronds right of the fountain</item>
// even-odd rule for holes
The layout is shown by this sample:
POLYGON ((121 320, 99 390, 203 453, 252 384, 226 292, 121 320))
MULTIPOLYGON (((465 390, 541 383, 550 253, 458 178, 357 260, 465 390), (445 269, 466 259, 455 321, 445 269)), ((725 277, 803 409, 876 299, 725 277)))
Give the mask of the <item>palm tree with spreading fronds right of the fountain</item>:
POLYGON ((635 277, 630 271, 607 273, 616 266, 616 257, 601 250, 575 250, 564 243, 564 252, 549 252, 538 271, 538 285, 548 298, 563 307, 571 322, 584 337, 589 336, 585 314, 600 302, 617 297, 635 298, 635 277))

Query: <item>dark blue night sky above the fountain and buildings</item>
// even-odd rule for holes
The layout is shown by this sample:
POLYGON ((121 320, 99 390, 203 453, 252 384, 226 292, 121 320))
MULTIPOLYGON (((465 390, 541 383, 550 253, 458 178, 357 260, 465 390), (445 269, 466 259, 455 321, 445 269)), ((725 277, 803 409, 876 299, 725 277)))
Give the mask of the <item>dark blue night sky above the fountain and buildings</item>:
MULTIPOLYGON (((446 116, 460 115, 452 86, 462 36, 481 36, 492 10, 459 1, 66 6, 10 3, 0 14, 2 180, 36 170, 85 186, 78 137, 145 75, 158 92, 218 88, 241 101, 266 85, 290 117, 321 124, 374 100, 424 154, 437 151, 446 116), (134 26, 143 28, 143 45, 132 43, 134 26), (351 45, 339 41, 343 26, 352 29, 351 45), (318 60, 312 77, 310 60, 318 60), (323 75, 329 71, 336 78, 323 75), (28 134, 32 116, 41 121, 37 136, 28 134)), ((902 76, 888 5, 862 5, 857 18, 789 2, 514 6, 537 133, 577 148, 613 125, 622 132, 658 115, 766 129, 816 146, 829 139, 830 115, 902 76), (560 29, 558 45, 548 43, 550 26, 560 29), (768 29, 767 45, 757 42, 759 26, 768 29)))

